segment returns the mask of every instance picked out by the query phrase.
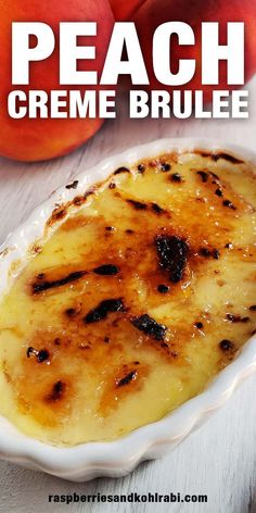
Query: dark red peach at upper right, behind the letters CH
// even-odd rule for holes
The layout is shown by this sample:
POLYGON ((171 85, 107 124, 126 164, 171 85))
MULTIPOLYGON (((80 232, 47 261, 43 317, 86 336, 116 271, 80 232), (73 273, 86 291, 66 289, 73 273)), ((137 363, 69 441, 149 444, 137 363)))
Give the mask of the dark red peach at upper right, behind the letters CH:
MULTIPOLYGON (((202 22, 219 22, 220 23, 220 43, 226 43, 227 22, 244 22, 245 23, 245 78, 252 77, 256 71, 256 3, 252 0, 146 0, 140 9, 135 13, 143 54, 145 58, 148 71, 150 74, 150 87, 152 89, 163 89, 153 72, 152 65, 152 39, 155 28, 162 23, 169 21, 182 21, 191 25, 195 34, 195 47, 179 47, 174 43, 172 47, 172 72, 177 70, 179 58, 196 59, 197 66, 193 79, 179 89, 202 89, 201 84, 201 23, 202 22)), ((159 55, 161 59, 161 55, 159 55)), ((205 101, 209 101, 213 89, 230 89, 232 86, 227 85, 227 65, 220 63, 219 68, 219 86, 203 86, 205 91, 205 101)))

